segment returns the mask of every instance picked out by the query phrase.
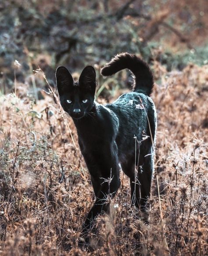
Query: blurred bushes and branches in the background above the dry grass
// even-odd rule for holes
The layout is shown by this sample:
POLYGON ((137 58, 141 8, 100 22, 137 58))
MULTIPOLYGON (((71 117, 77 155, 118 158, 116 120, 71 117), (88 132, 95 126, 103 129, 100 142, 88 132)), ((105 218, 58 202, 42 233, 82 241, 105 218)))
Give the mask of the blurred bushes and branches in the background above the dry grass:
MULTIPOLYGON (((37 69, 54 86, 59 65, 72 73, 95 65, 99 86, 100 67, 119 52, 154 63, 156 79, 158 70, 207 64, 207 11, 207 0, 1 1, 0 92, 16 85, 19 96, 41 99, 47 83, 37 69)), ((105 93, 101 88, 100 96, 105 93)))

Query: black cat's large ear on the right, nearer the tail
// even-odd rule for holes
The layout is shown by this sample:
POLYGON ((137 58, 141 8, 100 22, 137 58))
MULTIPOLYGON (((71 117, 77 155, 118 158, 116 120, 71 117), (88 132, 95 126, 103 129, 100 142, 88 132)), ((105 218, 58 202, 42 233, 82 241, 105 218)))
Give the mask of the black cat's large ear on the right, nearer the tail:
POLYGON ((96 73, 92 66, 87 66, 82 70, 79 77, 79 86, 95 93, 96 73))

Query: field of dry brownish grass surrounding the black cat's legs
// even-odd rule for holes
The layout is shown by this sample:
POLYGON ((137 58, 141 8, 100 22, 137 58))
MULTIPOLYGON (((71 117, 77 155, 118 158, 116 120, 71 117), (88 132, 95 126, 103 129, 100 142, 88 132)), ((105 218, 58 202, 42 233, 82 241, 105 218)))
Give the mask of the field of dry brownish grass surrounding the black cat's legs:
MULTIPOLYGON (((51 95, 0 96, 0 255, 207 255, 208 66, 154 63, 158 112, 149 224, 131 208, 129 181, 97 220, 93 252, 77 245, 93 189, 77 134, 51 95)), ((17 86, 18 87, 18 86, 17 86)))

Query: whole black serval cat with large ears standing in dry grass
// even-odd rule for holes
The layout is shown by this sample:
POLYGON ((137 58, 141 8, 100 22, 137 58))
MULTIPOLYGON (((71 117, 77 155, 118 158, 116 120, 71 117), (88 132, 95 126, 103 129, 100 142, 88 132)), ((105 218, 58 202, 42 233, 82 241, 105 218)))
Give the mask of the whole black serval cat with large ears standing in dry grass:
POLYGON ((90 228, 98 214, 108 213, 109 199, 115 197, 120 186, 120 166, 130 178, 131 203, 144 212, 150 196, 157 127, 154 103, 149 97, 153 75, 147 63, 129 53, 115 56, 101 69, 101 74, 109 76, 125 68, 134 75, 133 92, 106 105, 94 100, 93 67, 85 67, 78 82, 74 82, 65 67, 56 71, 61 106, 75 123, 96 196, 84 230, 90 228))

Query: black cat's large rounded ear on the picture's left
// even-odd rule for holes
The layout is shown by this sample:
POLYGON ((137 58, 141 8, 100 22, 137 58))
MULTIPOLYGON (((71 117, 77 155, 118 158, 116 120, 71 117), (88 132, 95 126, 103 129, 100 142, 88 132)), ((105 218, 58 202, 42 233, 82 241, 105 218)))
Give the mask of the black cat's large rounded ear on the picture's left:
POLYGON ((56 70, 56 82, 59 96, 68 93, 74 85, 74 79, 68 69, 61 66, 56 70))

